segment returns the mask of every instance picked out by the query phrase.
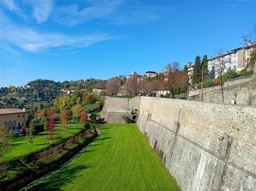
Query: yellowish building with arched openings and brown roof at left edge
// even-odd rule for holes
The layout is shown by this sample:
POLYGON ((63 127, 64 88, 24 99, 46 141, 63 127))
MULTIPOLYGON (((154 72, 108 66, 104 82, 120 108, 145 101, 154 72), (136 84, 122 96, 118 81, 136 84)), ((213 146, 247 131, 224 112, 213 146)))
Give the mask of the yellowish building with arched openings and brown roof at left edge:
POLYGON ((19 130, 28 121, 28 112, 22 109, 0 109, 0 125, 10 128, 14 133, 19 133, 19 130))

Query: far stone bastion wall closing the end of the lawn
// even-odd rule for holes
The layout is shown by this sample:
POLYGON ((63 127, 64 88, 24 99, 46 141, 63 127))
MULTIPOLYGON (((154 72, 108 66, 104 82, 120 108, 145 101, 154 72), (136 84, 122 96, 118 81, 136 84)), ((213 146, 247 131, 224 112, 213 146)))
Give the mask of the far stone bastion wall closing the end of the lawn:
POLYGON ((139 109, 140 97, 116 98, 105 97, 102 117, 107 123, 125 123, 122 116, 130 117, 133 109, 139 109))

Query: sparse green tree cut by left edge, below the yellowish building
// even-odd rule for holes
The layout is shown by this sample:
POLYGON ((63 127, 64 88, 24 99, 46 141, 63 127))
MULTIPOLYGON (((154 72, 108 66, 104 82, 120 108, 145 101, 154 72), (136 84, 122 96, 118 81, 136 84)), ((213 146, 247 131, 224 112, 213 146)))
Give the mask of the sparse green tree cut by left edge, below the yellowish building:
POLYGON ((4 125, 0 125, 0 157, 3 156, 4 152, 9 150, 12 136, 13 133, 11 129, 6 128, 4 125))

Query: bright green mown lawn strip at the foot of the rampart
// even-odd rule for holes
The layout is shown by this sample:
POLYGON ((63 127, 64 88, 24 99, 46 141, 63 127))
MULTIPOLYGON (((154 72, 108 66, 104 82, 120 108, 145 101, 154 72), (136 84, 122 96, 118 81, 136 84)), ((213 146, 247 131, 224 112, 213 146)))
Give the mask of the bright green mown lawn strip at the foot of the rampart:
POLYGON ((102 136, 77 160, 31 189, 180 190, 136 124, 99 130, 102 136))

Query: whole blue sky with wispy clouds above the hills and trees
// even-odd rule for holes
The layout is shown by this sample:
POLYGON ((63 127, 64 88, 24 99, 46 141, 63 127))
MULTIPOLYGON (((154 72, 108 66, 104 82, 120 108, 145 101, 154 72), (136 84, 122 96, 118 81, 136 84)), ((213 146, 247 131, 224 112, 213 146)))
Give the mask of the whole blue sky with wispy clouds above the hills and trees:
POLYGON ((0 1, 0 86, 161 72, 237 48, 256 1, 0 1))

